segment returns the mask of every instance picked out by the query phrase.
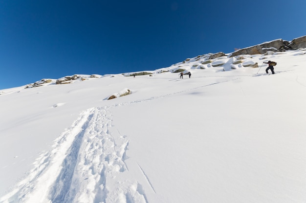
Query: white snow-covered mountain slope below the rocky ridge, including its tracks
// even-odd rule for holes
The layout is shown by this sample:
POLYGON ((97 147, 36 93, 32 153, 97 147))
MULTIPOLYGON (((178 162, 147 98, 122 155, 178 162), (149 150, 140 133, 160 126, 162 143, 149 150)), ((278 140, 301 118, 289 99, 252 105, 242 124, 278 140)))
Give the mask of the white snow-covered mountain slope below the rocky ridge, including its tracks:
POLYGON ((1 90, 0 203, 304 202, 306 49, 270 54, 1 90))

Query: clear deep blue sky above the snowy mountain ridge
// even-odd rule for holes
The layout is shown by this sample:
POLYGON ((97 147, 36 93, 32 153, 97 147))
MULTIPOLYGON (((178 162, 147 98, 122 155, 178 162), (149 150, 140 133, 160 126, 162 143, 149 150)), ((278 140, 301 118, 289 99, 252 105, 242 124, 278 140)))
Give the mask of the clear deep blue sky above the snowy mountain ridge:
POLYGON ((0 0, 0 89, 306 35, 306 0, 0 0))

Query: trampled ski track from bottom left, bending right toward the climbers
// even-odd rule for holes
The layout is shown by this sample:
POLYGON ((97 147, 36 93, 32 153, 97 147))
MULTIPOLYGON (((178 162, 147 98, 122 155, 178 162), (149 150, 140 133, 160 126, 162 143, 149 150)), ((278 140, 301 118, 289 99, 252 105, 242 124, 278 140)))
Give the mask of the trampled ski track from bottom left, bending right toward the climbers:
MULTIPOLYGON (((149 203, 142 185, 136 180, 116 180, 118 173, 128 171, 125 160, 129 139, 118 129, 116 136, 109 133, 112 122, 109 110, 237 79, 240 78, 83 111, 0 203, 149 203)), ((156 194, 149 177, 137 165, 156 194)))

